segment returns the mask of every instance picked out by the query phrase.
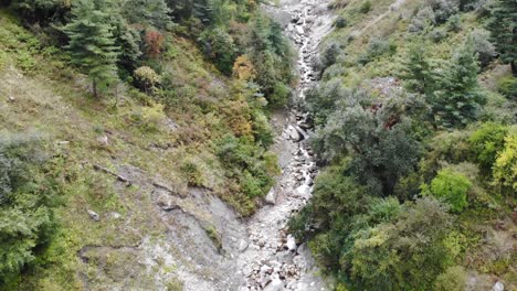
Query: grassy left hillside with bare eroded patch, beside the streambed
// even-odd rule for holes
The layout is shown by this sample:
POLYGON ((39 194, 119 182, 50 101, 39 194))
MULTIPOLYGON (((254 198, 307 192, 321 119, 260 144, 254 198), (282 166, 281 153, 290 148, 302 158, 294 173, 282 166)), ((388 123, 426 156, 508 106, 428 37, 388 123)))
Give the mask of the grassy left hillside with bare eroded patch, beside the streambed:
POLYGON ((228 257, 278 174, 267 116, 291 94, 293 53, 255 2, 205 7, 217 25, 192 14, 202 2, 104 19, 128 34, 115 39, 118 74, 97 80, 74 65, 65 24, 82 15, 74 6, 114 7, 0 10, 2 290, 241 284, 228 257))

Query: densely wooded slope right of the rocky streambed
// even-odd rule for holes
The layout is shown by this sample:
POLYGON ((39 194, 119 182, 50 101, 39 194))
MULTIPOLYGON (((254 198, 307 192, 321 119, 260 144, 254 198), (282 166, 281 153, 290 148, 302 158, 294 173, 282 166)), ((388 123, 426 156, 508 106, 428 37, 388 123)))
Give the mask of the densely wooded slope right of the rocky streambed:
POLYGON ((390 4, 333 4, 306 105, 324 170, 291 229, 338 290, 513 290, 517 2, 390 4))

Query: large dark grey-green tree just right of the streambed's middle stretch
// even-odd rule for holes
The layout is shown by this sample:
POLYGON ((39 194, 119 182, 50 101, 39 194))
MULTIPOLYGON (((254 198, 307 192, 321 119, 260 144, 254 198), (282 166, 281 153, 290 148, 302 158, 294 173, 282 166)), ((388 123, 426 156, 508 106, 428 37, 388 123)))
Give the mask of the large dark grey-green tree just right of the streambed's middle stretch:
POLYGON ((361 183, 373 192, 391 194, 398 179, 414 169, 420 155, 419 142, 408 133, 411 120, 403 116, 402 98, 391 96, 376 110, 371 109, 374 105, 340 104, 314 138, 320 159, 331 161, 350 154, 361 183))

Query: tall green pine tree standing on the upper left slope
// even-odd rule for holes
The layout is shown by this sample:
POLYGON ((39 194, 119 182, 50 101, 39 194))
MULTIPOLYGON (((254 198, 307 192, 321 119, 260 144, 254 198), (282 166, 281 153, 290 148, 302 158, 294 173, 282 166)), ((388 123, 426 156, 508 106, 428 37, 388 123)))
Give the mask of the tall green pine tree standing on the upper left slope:
POLYGON ((94 96, 116 78, 120 47, 115 45, 109 1, 78 0, 72 8, 72 22, 64 29, 72 63, 83 67, 92 79, 94 96))

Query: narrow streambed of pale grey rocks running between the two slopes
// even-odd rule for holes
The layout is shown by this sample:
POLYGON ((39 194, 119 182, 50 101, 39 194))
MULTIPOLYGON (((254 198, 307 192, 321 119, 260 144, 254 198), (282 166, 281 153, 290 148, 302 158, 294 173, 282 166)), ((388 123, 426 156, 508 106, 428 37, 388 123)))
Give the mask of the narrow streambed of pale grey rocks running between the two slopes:
POLYGON ((327 290, 307 246, 297 245, 286 233, 289 217, 310 198, 317 174, 307 137, 307 114, 299 110, 305 91, 316 80, 310 63, 323 37, 331 30, 333 18, 326 0, 285 0, 266 11, 285 28, 299 51, 299 86, 295 106, 287 115, 273 118, 278 136, 275 150, 282 176, 266 196, 267 206, 246 223, 247 238, 239 244, 236 277, 244 280, 239 290, 327 290))

